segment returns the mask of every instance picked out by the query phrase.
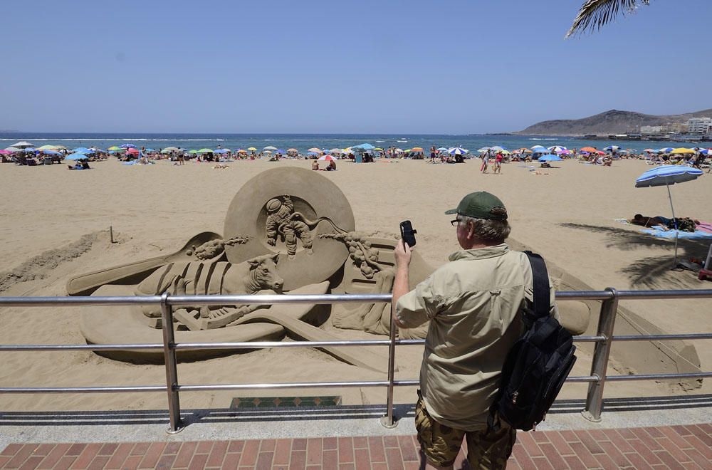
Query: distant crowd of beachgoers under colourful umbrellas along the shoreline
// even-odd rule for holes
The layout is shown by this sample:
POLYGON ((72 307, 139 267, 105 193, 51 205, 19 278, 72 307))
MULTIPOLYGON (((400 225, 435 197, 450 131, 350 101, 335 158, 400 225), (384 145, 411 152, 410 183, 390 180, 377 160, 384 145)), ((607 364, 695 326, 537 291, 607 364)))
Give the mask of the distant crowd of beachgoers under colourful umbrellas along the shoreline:
POLYGON ((467 159, 480 158, 481 171, 487 172, 488 167, 493 167, 493 172, 501 171, 501 164, 508 162, 540 162, 541 167, 550 167, 550 162, 566 159, 585 160, 591 164, 611 166, 618 159, 642 159, 651 164, 688 164, 693 167, 709 167, 710 152, 712 149, 704 147, 666 147, 661 149, 645 149, 638 151, 632 148, 622 149, 617 145, 609 145, 602 149, 596 147, 582 147, 568 149, 561 145, 544 147, 522 147, 508 150, 498 145, 482 147, 478 150, 468 150, 462 147, 436 147, 429 150, 422 147, 400 149, 397 147, 375 147, 368 143, 354 145, 346 148, 320 149, 312 147, 306 151, 295 148, 287 150, 277 147, 256 147, 231 150, 218 145, 215 149, 202 148, 188 150, 181 147, 166 147, 152 149, 137 147, 126 143, 112 146, 108 149, 98 147, 77 147, 69 149, 63 145, 43 145, 35 147, 31 142, 16 142, 11 147, 0 150, 2 162, 11 162, 20 165, 36 166, 40 164, 62 163, 71 160, 74 164, 68 165, 69 169, 89 169, 88 162, 106 160, 115 157, 127 164, 152 164, 159 160, 168 160, 176 165, 186 162, 216 162, 216 168, 225 168, 224 163, 239 160, 271 160, 280 159, 313 159, 328 162, 325 168, 320 168, 318 162, 313 163, 313 169, 336 169, 336 160, 351 160, 358 163, 375 162, 377 159, 408 158, 412 160, 426 160, 429 163, 462 163, 467 159))

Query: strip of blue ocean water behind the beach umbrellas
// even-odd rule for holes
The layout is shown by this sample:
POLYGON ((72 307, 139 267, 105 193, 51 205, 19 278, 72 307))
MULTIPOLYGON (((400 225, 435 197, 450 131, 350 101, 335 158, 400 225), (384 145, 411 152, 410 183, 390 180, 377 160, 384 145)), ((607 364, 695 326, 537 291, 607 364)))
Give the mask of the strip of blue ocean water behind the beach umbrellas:
MULTIPOLYGON (((42 145, 64 145, 75 147, 100 147, 131 143, 137 147, 159 150, 165 147, 181 147, 187 150, 201 148, 215 149, 218 145, 232 150, 273 146, 287 150, 295 148, 302 153, 311 147, 320 149, 344 148, 362 143, 374 147, 398 147, 403 150, 412 147, 464 147, 475 152, 481 147, 501 145, 509 150, 520 147, 562 145, 567 148, 591 146, 596 148, 619 145, 622 149, 662 147, 698 147, 699 143, 656 142, 640 140, 581 140, 575 137, 546 137, 525 135, 408 135, 408 134, 140 134, 124 133, 47 133, 47 132, 0 132, 0 148, 9 147, 19 140, 26 140, 36 147, 42 145)), ((710 146, 709 142, 706 146, 710 146)))

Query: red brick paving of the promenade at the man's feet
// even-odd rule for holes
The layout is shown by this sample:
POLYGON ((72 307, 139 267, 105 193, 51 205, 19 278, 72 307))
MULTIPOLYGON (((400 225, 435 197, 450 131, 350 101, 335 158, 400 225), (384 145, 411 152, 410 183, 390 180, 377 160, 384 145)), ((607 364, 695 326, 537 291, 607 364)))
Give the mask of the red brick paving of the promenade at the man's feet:
MULTIPOLYGON (((98 429, 100 432, 100 429, 98 429)), ((463 468, 460 454, 456 468, 463 468)), ((10 444, 3 469, 418 469, 412 436, 10 444)), ((464 468, 468 468, 466 465, 464 468)), ((712 424, 518 434, 512 469, 712 469, 712 424)))

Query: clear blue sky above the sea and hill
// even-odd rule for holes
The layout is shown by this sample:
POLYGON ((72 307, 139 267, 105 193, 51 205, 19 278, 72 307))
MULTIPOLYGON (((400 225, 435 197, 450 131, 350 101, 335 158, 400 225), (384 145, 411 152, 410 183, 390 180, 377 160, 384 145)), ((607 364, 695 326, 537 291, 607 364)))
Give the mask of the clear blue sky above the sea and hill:
POLYGON ((0 129, 519 130, 712 108, 712 1, 4 1, 0 129))

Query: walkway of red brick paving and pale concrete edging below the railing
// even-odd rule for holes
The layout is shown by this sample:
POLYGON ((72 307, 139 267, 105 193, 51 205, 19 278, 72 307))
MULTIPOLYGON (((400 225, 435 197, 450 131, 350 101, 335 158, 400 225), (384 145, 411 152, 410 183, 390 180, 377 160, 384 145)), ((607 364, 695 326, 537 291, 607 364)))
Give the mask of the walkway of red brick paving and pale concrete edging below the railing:
MULTIPOLYGON (((712 469, 712 397, 607 399, 600 423, 581 400, 557 400, 536 432, 519 432, 513 469, 712 469)), ((413 405, 0 412, 4 469, 417 469, 413 405)), ((468 468, 464 453, 456 468, 468 468), (465 465, 465 466, 464 466, 465 465)))

